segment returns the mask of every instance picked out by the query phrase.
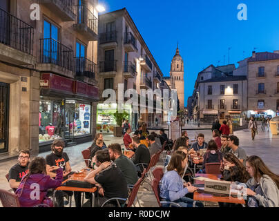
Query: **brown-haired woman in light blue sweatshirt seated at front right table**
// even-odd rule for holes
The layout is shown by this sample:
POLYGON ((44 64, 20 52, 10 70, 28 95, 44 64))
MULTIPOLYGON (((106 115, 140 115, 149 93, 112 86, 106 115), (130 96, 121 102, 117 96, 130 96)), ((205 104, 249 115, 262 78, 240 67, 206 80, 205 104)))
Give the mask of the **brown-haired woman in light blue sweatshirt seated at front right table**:
MULTIPOLYGON (((187 162, 188 157, 184 152, 177 151, 173 153, 167 167, 167 172, 164 173, 161 180, 160 196, 162 200, 176 202, 182 207, 193 206, 193 200, 186 198, 185 195, 193 193, 197 188, 190 183, 184 183, 181 177, 187 162)), ((196 205, 203 206, 200 202, 197 202, 196 205)))

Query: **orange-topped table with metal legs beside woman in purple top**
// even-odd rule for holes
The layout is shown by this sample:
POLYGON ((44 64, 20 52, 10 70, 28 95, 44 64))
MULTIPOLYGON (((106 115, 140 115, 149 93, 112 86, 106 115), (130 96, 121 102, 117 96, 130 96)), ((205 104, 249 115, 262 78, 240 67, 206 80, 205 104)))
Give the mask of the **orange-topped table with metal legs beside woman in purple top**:
MULTIPOLYGON (((84 182, 84 178, 88 174, 90 169, 82 169, 81 171, 78 171, 79 173, 73 173, 72 175, 69 175, 67 180, 64 180, 62 184, 65 184, 68 180, 77 180, 84 182)), ((76 191, 76 192, 88 192, 88 193, 95 193, 97 191, 97 187, 93 186, 93 188, 80 188, 80 187, 75 187, 75 186, 59 186, 55 191, 76 191)), ((53 191, 52 195, 52 201, 55 202, 55 191, 53 191)), ((93 206, 94 206, 94 197, 95 195, 93 194, 93 206)), ((82 204, 84 203, 84 195, 82 197, 82 204)), ((70 207, 72 206, 72 196, 70 196, 70 207)))

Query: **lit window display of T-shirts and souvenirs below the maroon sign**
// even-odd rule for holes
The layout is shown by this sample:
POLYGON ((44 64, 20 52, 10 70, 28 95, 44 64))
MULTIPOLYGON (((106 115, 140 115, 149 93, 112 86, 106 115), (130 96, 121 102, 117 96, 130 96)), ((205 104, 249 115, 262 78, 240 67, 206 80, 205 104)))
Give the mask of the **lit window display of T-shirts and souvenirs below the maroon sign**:
POLYGON ((39 104, 39 142, 90 134, 90 104, 64 99, 39 104))

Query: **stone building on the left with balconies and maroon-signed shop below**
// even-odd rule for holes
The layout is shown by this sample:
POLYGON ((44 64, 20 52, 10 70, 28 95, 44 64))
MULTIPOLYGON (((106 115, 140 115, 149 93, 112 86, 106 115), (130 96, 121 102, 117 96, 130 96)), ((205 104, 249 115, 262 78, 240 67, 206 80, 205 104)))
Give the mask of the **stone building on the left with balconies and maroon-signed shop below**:
POLYGON ((56 133, 68 143, 89 141, 95 134, 97 1, 42 0, 39 20, 30 19, 32 3, 37 1, 4 0, 0 4, 1 24, 5 26, 7 19, 15 20, 12 27, 0 30, 0 85, 8 91, 0 152, 6 157, 17 155, 21 149, 29 149, 34 155, 49 150, 56 133), (45 116, 50 117, 48 123, 55 128, 55 134, 42 125, 41 105, 46 100, 50 106, 46 106, 45 116), (70 124, 73 131, 76 124, 75 119, 67 122, 65 118, 70 104, 75 104, 73 112, 77 112, 77 104, 90 106, 90 119, 84 120, 90 132, 79 137, 75 132, 70 135, 70 124), (59 126, 57 115, 61 119, 59 126), (39 134, 46 135, 40 142, 39 134))

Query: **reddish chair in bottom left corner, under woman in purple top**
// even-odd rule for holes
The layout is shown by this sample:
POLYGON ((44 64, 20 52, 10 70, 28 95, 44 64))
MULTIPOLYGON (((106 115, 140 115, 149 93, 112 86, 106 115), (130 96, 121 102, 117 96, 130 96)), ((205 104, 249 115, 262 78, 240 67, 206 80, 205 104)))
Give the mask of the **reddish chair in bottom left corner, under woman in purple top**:
MULTIPOLYGON (((0 200, 3 207, 20 207, 19 198, 15 193, 0 189, 0 200)), ((50 207, 47 204, 38 204, 33 207, 50 207)))

